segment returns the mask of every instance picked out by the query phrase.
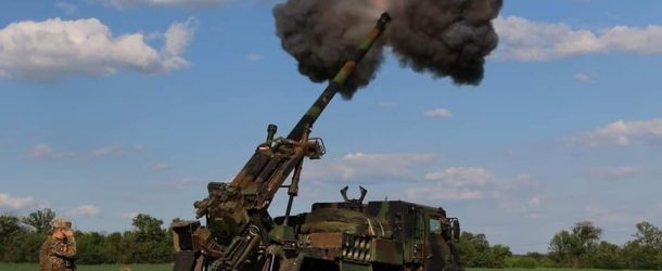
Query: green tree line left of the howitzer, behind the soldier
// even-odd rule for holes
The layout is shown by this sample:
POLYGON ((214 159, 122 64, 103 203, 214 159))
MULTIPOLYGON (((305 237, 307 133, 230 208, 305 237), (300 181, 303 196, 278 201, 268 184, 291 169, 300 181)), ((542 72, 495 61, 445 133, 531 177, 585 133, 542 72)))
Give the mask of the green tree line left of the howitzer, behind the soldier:
MULTIPOLYGON (((38 210, 27 217, 0 216, 0 261, 37 262, 39 247, 51 234, 55 212, 38 210)), ((133 229, 100 233, 76 231, 79 264, 164 263, 173 261, 173 234, 163 221, 140 214, 132 219, 133 229)))

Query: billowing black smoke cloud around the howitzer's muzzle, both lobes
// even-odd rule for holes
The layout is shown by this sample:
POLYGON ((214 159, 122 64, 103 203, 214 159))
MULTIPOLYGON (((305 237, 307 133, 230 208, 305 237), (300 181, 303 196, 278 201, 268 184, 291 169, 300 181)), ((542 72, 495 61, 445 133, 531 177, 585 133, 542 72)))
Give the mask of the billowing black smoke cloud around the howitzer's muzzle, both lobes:
POLYGON ((320 82, 333 78, 381 12, 393 22, 341 94, 352 98, 374 77, 390 46, 404 66, 458 85, 478 85, 497 44, 491 21, 502 0, 288 0, 276 5, 277 35, 298 70, 320 82))

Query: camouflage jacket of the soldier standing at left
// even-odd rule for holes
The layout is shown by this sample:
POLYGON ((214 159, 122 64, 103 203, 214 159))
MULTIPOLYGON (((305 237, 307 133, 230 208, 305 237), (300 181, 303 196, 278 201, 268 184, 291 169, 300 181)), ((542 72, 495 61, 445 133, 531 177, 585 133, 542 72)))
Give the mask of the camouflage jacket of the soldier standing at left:
POLYGON ((53 236, 41 244, 39 248, 39 271, 65 271, 67 269, 67 259, 76 256, 76 240, 71 238, 59 240, 53 236))

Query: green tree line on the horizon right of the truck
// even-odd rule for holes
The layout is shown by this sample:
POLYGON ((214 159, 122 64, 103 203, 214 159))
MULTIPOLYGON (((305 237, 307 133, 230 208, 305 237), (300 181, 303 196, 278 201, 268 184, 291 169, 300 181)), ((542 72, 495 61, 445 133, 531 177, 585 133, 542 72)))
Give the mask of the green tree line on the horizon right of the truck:
POLYGON ((513 255, 508 246, 491 246, 485 234, 462 232, 459 250, 470 268, 595 268, 662 270, 662 231, 649 223, 636 225, 633 240, 616 245, 601 240, 602 229, 589 221, 557 232, 547 254, 513 255))

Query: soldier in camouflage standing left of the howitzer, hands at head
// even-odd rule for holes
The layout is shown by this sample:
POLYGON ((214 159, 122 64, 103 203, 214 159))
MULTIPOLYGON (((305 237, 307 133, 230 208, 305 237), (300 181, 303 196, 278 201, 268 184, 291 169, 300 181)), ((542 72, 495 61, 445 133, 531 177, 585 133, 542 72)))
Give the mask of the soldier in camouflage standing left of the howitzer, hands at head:
POLYGON ((53 233, 39 249, 39 271, 76 270, 76 240, 72 222, 64 219, 53 221, 53 233))

